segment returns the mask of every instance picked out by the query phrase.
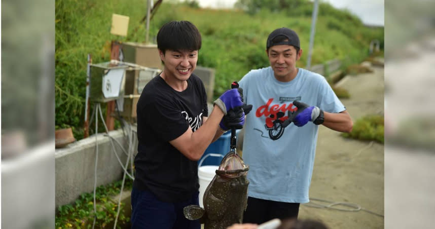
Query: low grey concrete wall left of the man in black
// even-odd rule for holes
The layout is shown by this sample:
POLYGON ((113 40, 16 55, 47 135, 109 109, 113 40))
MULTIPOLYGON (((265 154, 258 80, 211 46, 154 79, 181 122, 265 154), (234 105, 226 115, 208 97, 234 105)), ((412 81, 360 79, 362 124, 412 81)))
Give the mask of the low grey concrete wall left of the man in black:
MULTIPOLYGON (((111 131, 110 136, 117 139, 128 150, 127 137, 122 130, 111 131)), ((136 136, 133 136, 136 138, 136 136)), ((118 162, 109 137, 98 134, 97 186, 122 179, 123 169, 118 162)), ((116 154, 125 166, 127 156, 113 140, 116 154)), ((94 189, 95 135, 71 143, 65 148, 56 149, 56 208, 74 202, 82 193, 92 193, 94 189)), ((134 146, 134 152, 137 147, 134 146)))

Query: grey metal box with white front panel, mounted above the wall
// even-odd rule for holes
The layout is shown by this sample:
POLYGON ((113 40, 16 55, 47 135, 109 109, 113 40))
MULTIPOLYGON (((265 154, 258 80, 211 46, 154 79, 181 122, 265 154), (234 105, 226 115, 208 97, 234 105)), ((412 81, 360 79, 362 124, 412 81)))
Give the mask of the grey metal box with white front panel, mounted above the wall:
POLYGON ((128 65, 111 62, 91 64, 90 101, 108 102, 123 97, 127 67, 128 65))

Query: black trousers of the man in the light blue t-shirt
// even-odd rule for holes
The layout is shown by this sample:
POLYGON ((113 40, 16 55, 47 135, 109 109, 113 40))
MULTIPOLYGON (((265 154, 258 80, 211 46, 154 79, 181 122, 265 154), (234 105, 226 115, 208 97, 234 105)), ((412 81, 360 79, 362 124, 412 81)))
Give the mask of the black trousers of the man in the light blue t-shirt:
POLYGON ((248 206, 243 213, 244 223, 261 224, 271 219, 298 218, 299 203, 285 203, 248 197, 248 206))

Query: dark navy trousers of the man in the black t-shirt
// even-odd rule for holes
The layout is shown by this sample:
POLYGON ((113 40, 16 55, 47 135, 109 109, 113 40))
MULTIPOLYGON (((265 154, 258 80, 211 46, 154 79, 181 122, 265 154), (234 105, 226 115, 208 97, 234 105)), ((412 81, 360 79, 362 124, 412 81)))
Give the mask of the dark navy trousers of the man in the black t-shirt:
POLYGON ((188 205, 199 205, 198 192, 185 202, 159 201, 149 191, 131 190, 131 228, 133 229, 200 229, 199 220, 189 220, 183 214, 188 205))

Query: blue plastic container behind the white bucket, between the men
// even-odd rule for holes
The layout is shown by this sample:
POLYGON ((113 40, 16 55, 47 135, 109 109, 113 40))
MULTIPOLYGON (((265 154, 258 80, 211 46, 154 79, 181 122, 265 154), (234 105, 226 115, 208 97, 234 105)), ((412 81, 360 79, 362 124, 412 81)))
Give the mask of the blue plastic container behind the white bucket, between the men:
MULTIPOLYGON (((236 136, 239 135, 240 130, 236 130, 236 136)), ((217 165, 221 164, 222 159, 230 151, 231 143, 231 131, 223 134, 218 140, 211 143, 204 154, 198 161, 198 166, 217 165), (222 157, 216 157, 216 154, 222 155, 222 157), (209 155, 209 156, 207 156, 209 155), (203 160, 204 159, 204 160, 203 160), (202 162, 201 162, 202 161, 202 162), (200 163, 200 164, 199 164, 200 163)))

